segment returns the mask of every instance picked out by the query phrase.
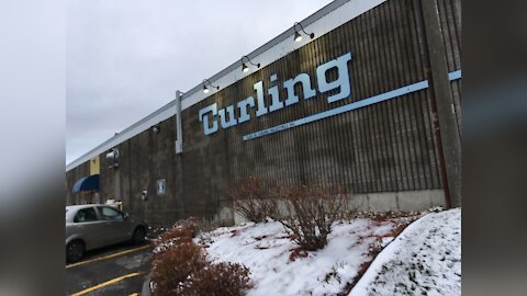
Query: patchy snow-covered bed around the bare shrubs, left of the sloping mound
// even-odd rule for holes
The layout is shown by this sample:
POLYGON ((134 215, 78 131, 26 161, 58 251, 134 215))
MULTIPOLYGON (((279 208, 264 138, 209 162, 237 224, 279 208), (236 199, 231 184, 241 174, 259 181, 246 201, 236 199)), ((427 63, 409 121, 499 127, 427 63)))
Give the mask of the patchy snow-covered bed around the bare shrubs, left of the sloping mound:
POLYGON ((405 223, 408 218, 403 217, 338 224, 323 250, 307 253, 295 251, 296 246, 277 221, 218 228, 203 234, 197 242, 206 247, 214 262, 237 262, 250 269, 255 287, 249 296, 335 295, 346 291, 363 262, 373 259, 370 244, 389 238, 405 223))

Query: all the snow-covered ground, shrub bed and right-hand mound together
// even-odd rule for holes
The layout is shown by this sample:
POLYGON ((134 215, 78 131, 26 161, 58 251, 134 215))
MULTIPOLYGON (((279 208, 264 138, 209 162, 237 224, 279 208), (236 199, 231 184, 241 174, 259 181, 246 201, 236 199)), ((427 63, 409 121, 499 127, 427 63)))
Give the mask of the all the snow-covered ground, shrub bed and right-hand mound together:
POLYGON ((358 218, 335 225, 328 244, 307 253, 295 251, 276 221, 218 228, 194 241, 213 262, 248 266, 249 296, 346 295, 373 260, 370 247, 386 244, 350 295, 460 295, 460 209, 427 214, 396 239, 419 216, 358 218))

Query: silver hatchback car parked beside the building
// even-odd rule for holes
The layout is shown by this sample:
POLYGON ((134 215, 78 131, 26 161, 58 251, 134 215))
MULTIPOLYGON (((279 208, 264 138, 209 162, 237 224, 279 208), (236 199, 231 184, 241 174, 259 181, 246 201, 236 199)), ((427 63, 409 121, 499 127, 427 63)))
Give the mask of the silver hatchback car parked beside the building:
POLYGON ((143 220, 103 204, 66 207, 66 260, 75 262, 86 251, 124 241, 145 241, 143 220))

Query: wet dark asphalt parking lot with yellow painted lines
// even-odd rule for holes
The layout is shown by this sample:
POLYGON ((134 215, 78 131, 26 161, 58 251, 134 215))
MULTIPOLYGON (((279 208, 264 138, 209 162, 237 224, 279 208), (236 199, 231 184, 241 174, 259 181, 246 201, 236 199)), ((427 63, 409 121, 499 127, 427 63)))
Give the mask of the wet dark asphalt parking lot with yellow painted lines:
POLYGON ((87 252, 66 265, 66 295, 141 295, 152 262, 149 244, 117 244, 87 252))

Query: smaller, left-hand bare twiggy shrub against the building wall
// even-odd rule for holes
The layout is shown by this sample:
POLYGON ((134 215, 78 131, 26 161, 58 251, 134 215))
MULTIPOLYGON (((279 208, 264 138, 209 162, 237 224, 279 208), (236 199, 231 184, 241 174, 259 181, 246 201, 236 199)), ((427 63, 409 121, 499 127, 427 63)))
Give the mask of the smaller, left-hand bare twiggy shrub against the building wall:
POLYGON ((278 213, 272 194, 276 187, 273 182, 249 177, 233 186, 227 195, 233 200, 235 212, 254 223, 267 221, 278 213))

